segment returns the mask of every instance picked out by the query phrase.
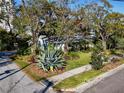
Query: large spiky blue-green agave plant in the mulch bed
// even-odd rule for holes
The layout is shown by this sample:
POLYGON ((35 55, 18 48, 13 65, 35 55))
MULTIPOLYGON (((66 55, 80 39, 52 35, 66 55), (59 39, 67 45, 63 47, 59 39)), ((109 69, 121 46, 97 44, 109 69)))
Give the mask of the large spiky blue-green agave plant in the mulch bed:
POLYGON ((44 71, 53 71, 65 67, 63 52, 56 49, 46 48, 40 52, 37 58, 38 66, 44 71))

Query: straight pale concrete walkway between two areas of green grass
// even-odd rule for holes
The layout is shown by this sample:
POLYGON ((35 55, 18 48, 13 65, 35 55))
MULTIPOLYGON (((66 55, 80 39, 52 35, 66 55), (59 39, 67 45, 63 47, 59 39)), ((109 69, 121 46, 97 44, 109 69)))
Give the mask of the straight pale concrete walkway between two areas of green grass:
POLYGON ((85 66, 82 66, 82 67, 79 67, 79 68, 69 70, 69 71, 64 72, 62 74, 50 77, 50 78, 48 78, 48 80, 53 82, 54 85, 56 85, 56 84, 58 84, 59 82, 61 82, 62 80, 66 79, 66 78, 77 75, 79 73, 83 73, 85 71, 89 71, 91 69, 92 69, 91 65, 85 65, 85 66))

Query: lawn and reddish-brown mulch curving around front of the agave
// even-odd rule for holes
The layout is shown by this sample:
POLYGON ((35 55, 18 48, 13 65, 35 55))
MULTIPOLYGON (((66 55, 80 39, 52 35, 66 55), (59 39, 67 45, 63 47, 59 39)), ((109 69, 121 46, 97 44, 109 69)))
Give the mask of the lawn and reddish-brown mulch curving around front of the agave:
POLYGON ((55 72, 44 72, 42 69, 38 68, 38 66, 34 64, 30 64, 30 58, 31 56, 18 56, 14 60, 14 62, 20 67, 24 68, 27 66, 23 71, 27 73, 28 76, 30 76, 32 79, 38 81, 42 80, 44 78, 57 75, 60 73, 63 73, 65 71, 89 64, 90 62, 90 53, 83 53, 83 52, 71 52, 68 54, 72 59, 67 60, 67 66, 63 71, 55 71, 55 72))

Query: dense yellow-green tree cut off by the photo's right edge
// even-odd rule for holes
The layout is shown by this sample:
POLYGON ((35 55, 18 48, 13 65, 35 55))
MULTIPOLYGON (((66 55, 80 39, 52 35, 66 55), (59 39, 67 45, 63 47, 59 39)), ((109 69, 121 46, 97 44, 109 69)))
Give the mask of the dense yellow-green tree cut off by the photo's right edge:
POLYGON ((111 24, 107 24, 107 30, 114 31, 113 35, 109 39, 108 45, 112 48, 123 49, 123 38, 124 38, 124 15, 120 13, 111 13, 108 16, 108 20, 111 24), (112 41, 112 42, 111 42, 112 41))

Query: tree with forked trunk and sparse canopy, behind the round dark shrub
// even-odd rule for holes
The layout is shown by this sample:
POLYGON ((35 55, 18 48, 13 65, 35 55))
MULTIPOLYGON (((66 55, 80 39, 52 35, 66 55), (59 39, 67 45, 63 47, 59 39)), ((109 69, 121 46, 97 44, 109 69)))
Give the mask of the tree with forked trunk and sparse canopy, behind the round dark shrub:
POLYGON ((117 31, 114 30, 113 26, 118 23, 118 21, 112 22, 114 19, 108 17, 110 11, 97 4, 87 5, 85 12, 88 17, 90 29, 95 32, 97 40, 101 42, 103 50, 106 51, 107 41, 117 31))

